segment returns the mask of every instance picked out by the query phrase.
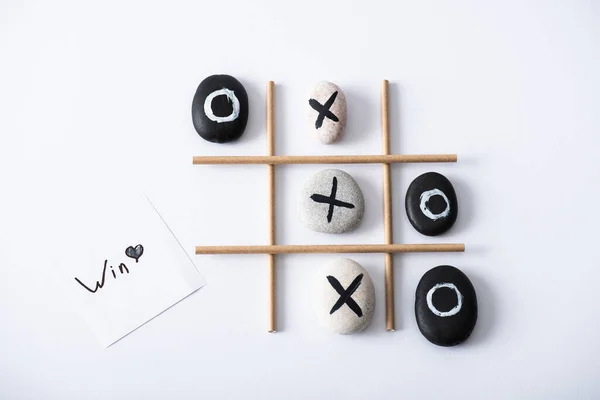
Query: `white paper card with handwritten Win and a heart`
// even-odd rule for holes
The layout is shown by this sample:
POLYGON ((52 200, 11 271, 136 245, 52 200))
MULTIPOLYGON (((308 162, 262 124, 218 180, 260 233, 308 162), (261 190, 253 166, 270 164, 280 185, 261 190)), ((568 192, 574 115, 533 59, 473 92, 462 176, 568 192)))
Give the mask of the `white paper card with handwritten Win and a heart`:
POLYGON ((85 245, 74 246, 65 279, 108 347, 205 281, 144 195, 119 196, 100 208, 86 216, 85 245))

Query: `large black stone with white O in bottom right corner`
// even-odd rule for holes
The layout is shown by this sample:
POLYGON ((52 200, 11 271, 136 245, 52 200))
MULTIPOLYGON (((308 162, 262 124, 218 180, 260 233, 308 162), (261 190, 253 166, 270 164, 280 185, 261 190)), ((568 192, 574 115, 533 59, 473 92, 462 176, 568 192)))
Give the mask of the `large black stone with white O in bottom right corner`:
POLYGON ((427 271, 417 286, 415 317, 419 330, 431 343, 462 343, 477 322, 473 284, 461 270, 450 265, 427 271))

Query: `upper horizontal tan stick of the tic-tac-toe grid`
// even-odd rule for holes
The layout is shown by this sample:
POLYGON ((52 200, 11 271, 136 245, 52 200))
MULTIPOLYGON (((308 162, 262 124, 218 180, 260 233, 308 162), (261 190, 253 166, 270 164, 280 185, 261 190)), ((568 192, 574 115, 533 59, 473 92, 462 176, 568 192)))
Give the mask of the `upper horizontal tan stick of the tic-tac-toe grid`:
POLYGON ((456 162, 456 154, 375 154, 356 156, 195 156, 203 164, 391 164, 456 162))

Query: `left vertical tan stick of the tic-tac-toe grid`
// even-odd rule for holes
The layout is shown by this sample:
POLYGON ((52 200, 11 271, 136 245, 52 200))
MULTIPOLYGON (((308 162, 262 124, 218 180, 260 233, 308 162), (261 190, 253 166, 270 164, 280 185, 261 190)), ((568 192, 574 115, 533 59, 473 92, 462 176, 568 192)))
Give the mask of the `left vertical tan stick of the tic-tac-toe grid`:
MULTIPOLYGON (((275 83, 267 82, 267 154, 275 154, 275 83)), ((275 166, 269 170, 269 244, 275 244, 275 166)), ((275 255, 269 254, 269 332, 277 331, 277 272, 275 255)))

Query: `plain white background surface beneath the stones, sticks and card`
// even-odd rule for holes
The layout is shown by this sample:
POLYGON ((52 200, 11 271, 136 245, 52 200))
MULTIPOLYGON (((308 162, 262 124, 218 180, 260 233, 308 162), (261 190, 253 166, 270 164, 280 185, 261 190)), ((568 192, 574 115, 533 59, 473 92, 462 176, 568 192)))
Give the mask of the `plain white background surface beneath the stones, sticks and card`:
MULTIPOLYGON (((0 397, 593 398, 600 395, 599 16, 592 1, 104 1, 0 3, 0 397), (232 145, 201 140, 190 106, 207 75, 251 100, 232 145), (60 287, 85 238, 78 198, 152 187, 181 241, 263 244, 262 166, 193 167, 193 155, 264 154, 264 87, 277 86, 278 154, 377 154, 380 81, 392 152, 457 153, 393 167, 397 243, 464 254, 395 256, 398 331, 384 329, 382 255, 352 255, 377 293, 360 335, 323 331, 311 282, 333 255, 278 258, 279 328, 267 329, 264 256, 194 256, 208 284, 105 350, 60 287), (349 102, 343 141, 306 132, 305 93, 331 80, 349 102), (438 238, 403 211, 422 172, 453 182, 460 214, 438 238), (241 204, 243 201, 243 204, 241 204), (428 343, 414 290, 439 264, 478 293, 470 340, 428 343)), ((360 228, 308 232, 296 194, 319 166, 277 168, 282 244, 383 241, 381 167, 344 166, 366 196, 360 228)))

